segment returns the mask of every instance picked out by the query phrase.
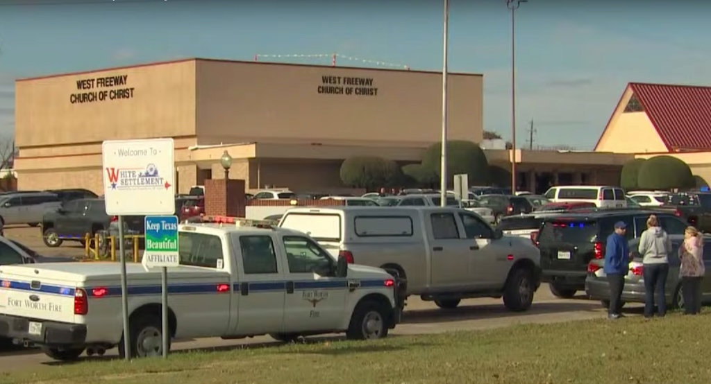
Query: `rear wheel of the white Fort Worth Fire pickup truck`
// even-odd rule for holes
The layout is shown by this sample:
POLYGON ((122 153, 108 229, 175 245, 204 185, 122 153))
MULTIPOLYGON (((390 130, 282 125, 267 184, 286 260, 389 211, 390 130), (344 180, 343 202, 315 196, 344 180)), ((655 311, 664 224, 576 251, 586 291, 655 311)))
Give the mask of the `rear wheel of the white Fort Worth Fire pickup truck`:
MULTIPOLYGON (((131 319, 131 329, 129 331, 131 340, 131 356, 153 357, 163 355, 163 333, 161 331, 160 317, 152 314, 144 314, 135 319, 131 319)), ((168 339, 168 349, 171 348, 171 340, 168 339)), ((126 356, 124 351, 124 339, 119 342, 119 356, 126 356)))

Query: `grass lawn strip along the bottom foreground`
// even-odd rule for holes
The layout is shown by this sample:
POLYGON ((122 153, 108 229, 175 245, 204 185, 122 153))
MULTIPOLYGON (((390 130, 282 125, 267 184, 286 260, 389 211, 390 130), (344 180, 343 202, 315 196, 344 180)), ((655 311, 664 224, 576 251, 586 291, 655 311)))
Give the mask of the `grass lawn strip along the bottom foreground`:
POLYGON ((87 360, 0 374, 0 383, 709 384, 711 315, 670 314, 491 331, 392 336, 222 352, 167 361, 87 360))

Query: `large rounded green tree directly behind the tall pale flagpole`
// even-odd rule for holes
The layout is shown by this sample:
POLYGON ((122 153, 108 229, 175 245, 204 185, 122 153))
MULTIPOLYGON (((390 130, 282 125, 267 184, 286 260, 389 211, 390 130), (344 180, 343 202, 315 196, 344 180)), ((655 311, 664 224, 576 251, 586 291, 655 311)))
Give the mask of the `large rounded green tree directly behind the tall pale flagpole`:
MULTIPOLYGON (((442 143, 434 143, 422 155, 422 167, 441 177, 440 161, 442 143)), ((469 185, 488 182, 488 160, 483 150, 471 141, 452 140, 447 142, 447 185, 453 183, 452 176, 466 173, 469 185)))

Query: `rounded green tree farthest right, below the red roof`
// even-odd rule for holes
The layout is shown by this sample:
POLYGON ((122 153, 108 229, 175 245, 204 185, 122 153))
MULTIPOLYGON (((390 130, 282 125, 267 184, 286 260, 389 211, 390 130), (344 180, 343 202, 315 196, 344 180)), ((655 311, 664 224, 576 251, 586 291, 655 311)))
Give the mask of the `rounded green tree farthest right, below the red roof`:
POLYGON ((669 155, 655 156, 642 163, 637 177, 638 187, 645 190, 693 188, 696 185, 691 168, 669 155))

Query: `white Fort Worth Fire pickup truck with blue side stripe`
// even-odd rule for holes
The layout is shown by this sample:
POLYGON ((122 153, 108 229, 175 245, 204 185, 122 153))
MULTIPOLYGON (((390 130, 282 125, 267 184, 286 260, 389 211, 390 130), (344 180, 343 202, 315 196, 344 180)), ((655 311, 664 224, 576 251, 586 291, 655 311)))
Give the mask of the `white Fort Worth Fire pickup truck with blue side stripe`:
MULTIPOLYGON (((343 331, 377 339, 400 321, 392 275, 336 260, 302 232, 216 218, 181 224, 178 241, 181 266, 168 280, 173 339, 343 331)), ((160 273, 137 263, 127 273, 130 356, 160 356, 160 273)), ((0 337, 51 358, 114 346, 125 356, 121 308, 119 263, 0 266, 0 337)))

